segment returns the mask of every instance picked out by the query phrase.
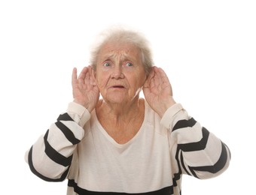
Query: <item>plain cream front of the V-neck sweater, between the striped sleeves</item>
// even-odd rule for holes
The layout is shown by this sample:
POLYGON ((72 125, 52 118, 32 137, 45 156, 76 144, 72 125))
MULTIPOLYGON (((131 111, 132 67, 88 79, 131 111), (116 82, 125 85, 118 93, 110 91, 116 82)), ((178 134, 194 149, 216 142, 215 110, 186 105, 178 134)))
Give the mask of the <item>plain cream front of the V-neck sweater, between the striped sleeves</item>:
POLYGON ((118 144, 96 113, 78 145, 78 185, 92 191, 142 193, 172 185, 169 139, 160 117, 145 104, 145 120, 133 139, 118 144))

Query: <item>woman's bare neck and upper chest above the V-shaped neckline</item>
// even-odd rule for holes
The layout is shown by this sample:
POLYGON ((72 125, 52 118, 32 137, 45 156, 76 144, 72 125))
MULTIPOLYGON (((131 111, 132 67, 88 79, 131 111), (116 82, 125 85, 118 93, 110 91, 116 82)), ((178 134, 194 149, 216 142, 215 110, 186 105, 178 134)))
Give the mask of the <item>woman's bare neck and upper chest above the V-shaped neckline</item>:
POLYGON ((99 101, 96 107, 99 123, 117 143, 124 144, 139 132, 145 115, 145 102, 139 99, 129 105, 112 105, 99 101))

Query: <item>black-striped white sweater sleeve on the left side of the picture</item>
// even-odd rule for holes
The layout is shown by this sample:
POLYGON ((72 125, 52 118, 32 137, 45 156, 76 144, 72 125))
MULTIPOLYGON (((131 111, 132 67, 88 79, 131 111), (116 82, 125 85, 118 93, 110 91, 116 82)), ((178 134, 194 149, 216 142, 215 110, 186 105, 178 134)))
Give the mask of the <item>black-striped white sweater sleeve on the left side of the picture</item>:
POLYGON ((63 181, 69 172, 76 145, 84 137, 84 124, 90 119, 86 108, 74 102, 59 115, 47 132, 26 151, 29 168, 45 181, 63 181))

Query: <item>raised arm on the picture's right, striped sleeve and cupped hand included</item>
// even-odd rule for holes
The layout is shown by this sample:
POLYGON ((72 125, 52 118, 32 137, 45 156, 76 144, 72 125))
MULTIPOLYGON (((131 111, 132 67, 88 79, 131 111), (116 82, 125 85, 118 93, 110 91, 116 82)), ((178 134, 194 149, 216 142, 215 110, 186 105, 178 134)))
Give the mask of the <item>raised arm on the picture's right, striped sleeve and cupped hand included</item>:
POLYGON ((227 169, 230 151, 223 142, 187 115, 172 98, 172 86, 161 68, 152 68, 143 86, 145 99, 170 131, 172 157, 178 162, 177 175, 211 178, 227 169), (173 145, 175 144, 175 145, 173 145))

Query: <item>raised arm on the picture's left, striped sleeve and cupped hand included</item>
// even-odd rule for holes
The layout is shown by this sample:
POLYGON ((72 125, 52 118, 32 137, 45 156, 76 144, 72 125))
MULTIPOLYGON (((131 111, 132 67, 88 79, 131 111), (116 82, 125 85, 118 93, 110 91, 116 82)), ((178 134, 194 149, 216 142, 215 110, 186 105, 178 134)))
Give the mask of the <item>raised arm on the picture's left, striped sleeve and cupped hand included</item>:
POLYGON ((76 145, 84 137, 84 124, 99 100, 94 71, 84 67, 77 77, 72 72, 74 101, 67 113, 59 115, 47 132, 26 152, 26 161, 35 175, 47 181, 62 181, 69 172, 76 145))

